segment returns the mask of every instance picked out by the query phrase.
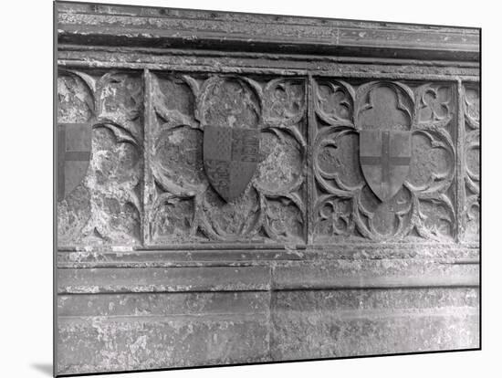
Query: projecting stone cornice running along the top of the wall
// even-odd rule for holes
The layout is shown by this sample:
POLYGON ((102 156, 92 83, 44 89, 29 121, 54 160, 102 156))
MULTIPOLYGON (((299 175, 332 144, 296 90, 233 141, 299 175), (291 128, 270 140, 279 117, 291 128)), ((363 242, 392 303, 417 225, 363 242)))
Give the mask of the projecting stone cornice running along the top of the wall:
POLYGON ((57 3, 58 42, 479 60, 479 29, 57 3))

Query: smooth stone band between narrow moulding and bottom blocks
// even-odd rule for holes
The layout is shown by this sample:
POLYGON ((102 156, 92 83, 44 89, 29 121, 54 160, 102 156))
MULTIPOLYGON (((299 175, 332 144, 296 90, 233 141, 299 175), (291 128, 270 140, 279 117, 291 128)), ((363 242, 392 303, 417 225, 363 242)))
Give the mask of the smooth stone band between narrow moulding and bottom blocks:
POLYGON ((477 264, 413 259, 287 262, 271 267, 58 268, 58 294, 477 286, 477 264))

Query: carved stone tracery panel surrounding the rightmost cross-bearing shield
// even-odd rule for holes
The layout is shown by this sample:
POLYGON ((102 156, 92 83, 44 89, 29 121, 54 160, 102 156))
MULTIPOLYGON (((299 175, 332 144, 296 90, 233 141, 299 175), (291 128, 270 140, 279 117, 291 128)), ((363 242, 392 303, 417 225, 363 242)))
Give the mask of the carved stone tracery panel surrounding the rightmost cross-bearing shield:
POLYGON ((455 97, 449 84, 317 79, 313 101, 316 242, 454 240, 455 97), (361 134, 380 131, 404 142, 409 135, 411 158, 408 153, 392 165, 392 150, 400 146, 391 138, 387 165, 379 166, 385 160, 379 147, 370 162, 374 171, 363 173, 361 134), (368 185, 371 174, 384 171, 397 185, 388 200, 368 185))

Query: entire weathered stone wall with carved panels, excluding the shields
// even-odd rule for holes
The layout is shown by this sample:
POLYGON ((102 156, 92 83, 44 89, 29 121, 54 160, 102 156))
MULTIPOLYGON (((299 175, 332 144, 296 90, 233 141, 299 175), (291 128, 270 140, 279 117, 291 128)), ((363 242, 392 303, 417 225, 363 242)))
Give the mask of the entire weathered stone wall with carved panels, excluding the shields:
POLYGON ((59 166, 59 374, 479 347, 476 29, 56 7, 58 124, 89 135, 59 166), (259 132, 230 202, 214 125, 259 132), (389 201, 382 130, 412 146, 389 201))

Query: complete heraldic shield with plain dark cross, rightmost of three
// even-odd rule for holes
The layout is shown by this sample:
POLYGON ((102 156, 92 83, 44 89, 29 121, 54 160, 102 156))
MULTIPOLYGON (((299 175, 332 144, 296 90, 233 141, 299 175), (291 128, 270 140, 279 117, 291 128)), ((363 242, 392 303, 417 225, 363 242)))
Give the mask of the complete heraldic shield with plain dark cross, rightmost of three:
POLYGON ((410 171, 411 157, 410 131, 360 131, 362 173, 382 202, 401 189, 410 171))

